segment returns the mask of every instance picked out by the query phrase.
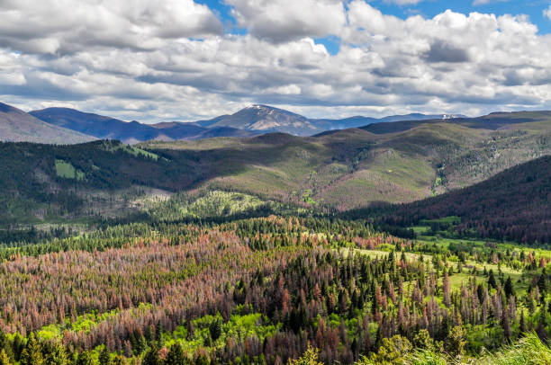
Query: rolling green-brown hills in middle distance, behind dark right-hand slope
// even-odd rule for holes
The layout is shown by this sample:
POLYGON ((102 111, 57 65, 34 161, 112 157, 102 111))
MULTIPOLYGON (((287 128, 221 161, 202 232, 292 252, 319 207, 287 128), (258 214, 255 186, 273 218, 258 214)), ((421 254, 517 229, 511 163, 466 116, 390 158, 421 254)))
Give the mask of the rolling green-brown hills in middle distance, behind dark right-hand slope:
POLYGON ((195 154, 208 176, 205 183, 351 209, 420 200, 551 153, 551 122, 509 127, 440 121, 384 135, 346 129, 312 138, 269 134, 141 146, 175 159, 181 151, 195 154))

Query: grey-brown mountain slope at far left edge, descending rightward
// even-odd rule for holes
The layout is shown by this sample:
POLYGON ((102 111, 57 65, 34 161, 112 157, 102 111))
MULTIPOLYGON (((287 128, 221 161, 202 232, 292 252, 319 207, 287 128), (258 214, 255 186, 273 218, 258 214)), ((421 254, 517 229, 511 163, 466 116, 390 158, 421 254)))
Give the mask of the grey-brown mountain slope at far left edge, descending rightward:
POLYGON ((73 144, 94 140, 94 137, 45 123, 31 114, 0 102, 0 140, 73 144))

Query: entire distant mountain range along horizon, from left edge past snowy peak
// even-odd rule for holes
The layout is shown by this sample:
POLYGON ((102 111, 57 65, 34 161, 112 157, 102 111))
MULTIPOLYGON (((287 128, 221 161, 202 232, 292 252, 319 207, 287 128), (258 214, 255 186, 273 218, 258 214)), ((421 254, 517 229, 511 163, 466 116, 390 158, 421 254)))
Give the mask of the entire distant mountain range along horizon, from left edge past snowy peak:
POLYGON ((47 108, 28 113, 4 105, 0 114, 0 139, 42 143, 78 143, 118 139, 135 144, 148 140, 195 140, 214 137, 252 137, 283 132, 312 136, 327 130, 363 127, 395 120, 447 120, 461 115, 407 114, 375 119, 356 116, 340 120, 308 119, 291 111, 267 105, 250 105, 231 115, 195 122, 170 121, 157 124, 130 122, 69 108, 47 108), (16 112, 15 112, 16 111, 16 112))

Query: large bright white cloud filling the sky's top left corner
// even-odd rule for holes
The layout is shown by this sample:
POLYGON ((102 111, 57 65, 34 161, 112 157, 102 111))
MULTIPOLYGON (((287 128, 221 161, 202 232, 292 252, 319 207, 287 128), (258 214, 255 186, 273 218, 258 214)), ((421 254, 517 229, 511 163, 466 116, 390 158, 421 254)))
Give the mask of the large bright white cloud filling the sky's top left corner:
POLYGON ((163 39, 222 31, 212 11, 193 0, 5 0, 0 18, 0 46, 28 53, 155 49, 163 39))

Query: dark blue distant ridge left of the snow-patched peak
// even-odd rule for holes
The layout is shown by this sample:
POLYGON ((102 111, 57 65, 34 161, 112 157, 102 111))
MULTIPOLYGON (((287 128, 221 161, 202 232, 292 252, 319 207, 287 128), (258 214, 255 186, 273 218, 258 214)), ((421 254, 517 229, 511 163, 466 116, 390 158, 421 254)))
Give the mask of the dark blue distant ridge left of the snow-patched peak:
POLYGON ((31 114, 51 125, 76 130, 102 139, 118 139, 124 143, 139 143, 151 139, 181 140, 199 139, 216 134, 219 137, 246 137, 253 135, 236 129, 219 129, 212 131, 196 123, 177 121, 158 124, 143 124, 139 121, 130 122, 117 120, 89 112, 68 108, 48 108, 41 111, 31 111, 31 114))

